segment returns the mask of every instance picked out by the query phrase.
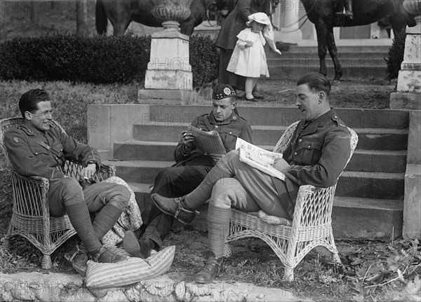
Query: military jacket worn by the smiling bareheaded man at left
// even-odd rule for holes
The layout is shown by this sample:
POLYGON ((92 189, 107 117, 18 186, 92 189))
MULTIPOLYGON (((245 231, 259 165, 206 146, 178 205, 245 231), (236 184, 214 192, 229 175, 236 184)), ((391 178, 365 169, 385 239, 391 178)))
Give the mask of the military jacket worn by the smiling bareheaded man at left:
POLYGON ((95 161, 97 167, 101 165, 98 151, 53 125, 49 130, 40 131, 24 120, 6 133, 4 142, 13 168, 22 176, 61 179, 65 177, 62 172, 65 160, 74 160, 85 167, 90 160, 95 161))

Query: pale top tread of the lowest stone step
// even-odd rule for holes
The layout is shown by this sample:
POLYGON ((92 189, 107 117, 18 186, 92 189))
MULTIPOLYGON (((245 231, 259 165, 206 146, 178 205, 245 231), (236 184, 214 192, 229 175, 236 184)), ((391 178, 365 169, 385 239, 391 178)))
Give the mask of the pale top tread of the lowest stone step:
MULTIPOLYGON (((138 184, 129 182, 128 185, 135 193, 149 194, 150 190, 152 189, 152 184, 138 184)), ((403 200, 335 196, 333 206, 349 208, 352 207, 366 210, 403 211, 403 200)))

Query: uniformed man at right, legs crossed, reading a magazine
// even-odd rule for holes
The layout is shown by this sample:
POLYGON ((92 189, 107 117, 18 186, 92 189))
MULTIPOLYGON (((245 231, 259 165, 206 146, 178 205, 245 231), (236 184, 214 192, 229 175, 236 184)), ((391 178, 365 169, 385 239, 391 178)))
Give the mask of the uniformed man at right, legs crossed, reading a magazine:
POLYGON ((281 181, 239 160, 231 151, 208 173, 192 193, 181 198, 153 194, 156 207, 166 214, 187 219, 210 198, 208 207, 209 250, 196 282, 209 283, 222 274, 222 252, 229 228, 231 207, 243 212, 265 211, 292 220, 298 189, 302 185, 333 186, 351 154, 351 134, 329 104, 330 83, 313 72, 297 83, 295 105, 305 118, 298 123, 283 158, 274 167, 281 181))

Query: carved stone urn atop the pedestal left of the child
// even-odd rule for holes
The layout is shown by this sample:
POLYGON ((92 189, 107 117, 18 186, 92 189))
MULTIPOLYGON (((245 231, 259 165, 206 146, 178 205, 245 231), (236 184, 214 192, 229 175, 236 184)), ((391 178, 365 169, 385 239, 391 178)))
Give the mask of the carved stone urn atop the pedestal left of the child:
POLYGON ((180 21, 189 18, 191 1, 185 0, 159 0, 152 1, 152 15, 162 21, 163 29, 166 31, 178 30, 180 21))

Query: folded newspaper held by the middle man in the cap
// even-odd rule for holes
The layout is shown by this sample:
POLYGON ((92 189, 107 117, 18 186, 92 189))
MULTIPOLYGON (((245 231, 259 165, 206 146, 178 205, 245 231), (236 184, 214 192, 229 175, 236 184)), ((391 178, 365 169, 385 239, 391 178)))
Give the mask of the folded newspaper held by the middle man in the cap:
POLYGON ((194 143, 197 148, 205 153, 217 153, 226 154, 225 146, 222 144, 222 140, 219 133, 215 130, 203 131, 192 125, 189 125, 189 131, 194 136, 194 143))

